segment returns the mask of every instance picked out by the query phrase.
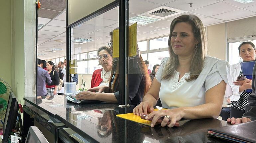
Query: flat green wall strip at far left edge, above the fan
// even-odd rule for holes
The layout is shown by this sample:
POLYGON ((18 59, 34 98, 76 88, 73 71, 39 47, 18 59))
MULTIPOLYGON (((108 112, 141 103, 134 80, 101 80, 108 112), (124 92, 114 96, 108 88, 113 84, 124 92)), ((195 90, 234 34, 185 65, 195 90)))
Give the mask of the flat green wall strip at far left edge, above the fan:
POLYGON ((11 1, 0 4, 0 78, 12 86, 11 1))

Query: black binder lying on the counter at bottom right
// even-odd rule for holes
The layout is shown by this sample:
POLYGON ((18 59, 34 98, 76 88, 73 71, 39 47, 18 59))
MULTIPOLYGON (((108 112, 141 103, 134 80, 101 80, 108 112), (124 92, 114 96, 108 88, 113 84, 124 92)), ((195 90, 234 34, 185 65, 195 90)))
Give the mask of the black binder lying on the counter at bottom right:
POLYGON ((208 135, 239 143, 256 143, 256 121, 208 129, 208 135))

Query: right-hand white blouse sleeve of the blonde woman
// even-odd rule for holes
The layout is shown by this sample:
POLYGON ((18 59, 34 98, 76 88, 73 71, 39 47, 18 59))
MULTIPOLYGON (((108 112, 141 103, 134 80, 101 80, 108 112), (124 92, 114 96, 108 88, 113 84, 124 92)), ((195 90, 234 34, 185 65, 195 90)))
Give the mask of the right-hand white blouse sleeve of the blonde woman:
POLYGON ((233 91, 230 86, 230 65, 224 60, 217 60, 217 62, 213 65, 212 69, 210 70, 208 76, 205 79, 205 92, 208 89, 218 85, 222 80, 226 83, 226 91, 224 97, 231 96, 233 94, 233 91))

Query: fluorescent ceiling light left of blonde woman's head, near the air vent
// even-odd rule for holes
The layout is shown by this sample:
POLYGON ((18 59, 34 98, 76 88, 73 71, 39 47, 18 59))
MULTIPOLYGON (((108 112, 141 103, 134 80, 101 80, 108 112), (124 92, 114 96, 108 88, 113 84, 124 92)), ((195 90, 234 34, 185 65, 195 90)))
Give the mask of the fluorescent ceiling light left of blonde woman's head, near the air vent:
POLYGON ((132 17, 132 18, 129 18, 129 22, 130 22, 130 23, 135 23, 135 22, 137 22, 137 24, 139 24, 139 25, 146 25, 146 24, 149 24, 149 23, 158 21, 158 20, 161 20, 161 19, 159 19, 159 18, 147 17, 147 16, 141 16, 141 15, 138 15, 138 16, 135 16, 135 17, 132 17))

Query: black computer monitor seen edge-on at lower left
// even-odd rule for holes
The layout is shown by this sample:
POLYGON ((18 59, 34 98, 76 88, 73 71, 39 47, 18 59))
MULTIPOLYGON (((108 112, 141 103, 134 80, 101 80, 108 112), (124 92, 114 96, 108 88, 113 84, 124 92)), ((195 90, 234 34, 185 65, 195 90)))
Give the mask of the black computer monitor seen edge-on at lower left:
POLYGON ((3 140, 2 140, 3 143, 8 143, 8 138, 11 134, 12 129, 15 126, 18 112, 19 112, 19 104, 13 92, 10 92, 10 97, 9 97, 8 105, 6 108, 5 119, 4 119, 3 140))

